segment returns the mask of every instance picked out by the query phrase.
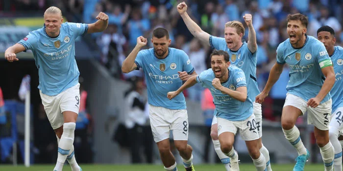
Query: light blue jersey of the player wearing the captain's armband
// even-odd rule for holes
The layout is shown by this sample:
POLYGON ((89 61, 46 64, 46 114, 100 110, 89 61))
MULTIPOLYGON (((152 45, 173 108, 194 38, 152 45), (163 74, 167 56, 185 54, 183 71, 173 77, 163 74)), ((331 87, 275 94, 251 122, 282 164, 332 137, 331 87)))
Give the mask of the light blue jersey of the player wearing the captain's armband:
MULTIPOLYGON (((316 97, 324 83, 321 68, 332 65, 323 43, 312 36, 306 36, 303 47, 294 48, 290 40, 280 43, 276 49, 278 64, 290 66, 290 81, 286 87, 288 93, 305 101, 316 97)), ((320 103, 331 99, 328 93, 320 103)))

